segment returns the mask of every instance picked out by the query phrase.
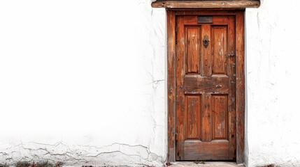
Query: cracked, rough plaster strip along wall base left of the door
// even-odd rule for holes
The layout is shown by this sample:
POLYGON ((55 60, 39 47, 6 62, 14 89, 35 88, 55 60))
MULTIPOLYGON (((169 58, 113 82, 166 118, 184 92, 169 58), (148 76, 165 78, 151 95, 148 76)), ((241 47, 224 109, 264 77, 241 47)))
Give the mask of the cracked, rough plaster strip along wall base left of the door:
POLYGON ((96 147, 90 145, 65 145, 64 143, 21 143, 1 148, 1 161, 14 164, 16 161, 48 159, 52 163, 65 162, 67 166, 88 164, 92 166, 161 166, 164 158, 143 145, 113 143, 96 147), (123 159, 123 161, 120 161, 123 159))

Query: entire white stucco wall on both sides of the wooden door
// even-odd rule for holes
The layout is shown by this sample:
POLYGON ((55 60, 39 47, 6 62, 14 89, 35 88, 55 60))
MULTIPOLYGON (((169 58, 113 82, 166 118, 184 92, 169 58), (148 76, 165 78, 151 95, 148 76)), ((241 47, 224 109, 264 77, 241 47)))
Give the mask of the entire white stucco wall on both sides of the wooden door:
MULTIPOLYGON (((163 166, 166 13, 0 1, 0 163, 163 166)), ((247 9, 246 166, 300 166, 299 1, 247 9)))

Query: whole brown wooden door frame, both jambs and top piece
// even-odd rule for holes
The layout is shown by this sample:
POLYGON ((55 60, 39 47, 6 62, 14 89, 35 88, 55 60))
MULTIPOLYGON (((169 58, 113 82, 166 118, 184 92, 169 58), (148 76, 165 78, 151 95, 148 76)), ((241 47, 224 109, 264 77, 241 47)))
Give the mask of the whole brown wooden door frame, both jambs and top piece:
POLYGON ((245 10, 167 9, 168 161, 176 161, 176 15, 236 17, 236 163, 244 162, 245 145, 245 10))

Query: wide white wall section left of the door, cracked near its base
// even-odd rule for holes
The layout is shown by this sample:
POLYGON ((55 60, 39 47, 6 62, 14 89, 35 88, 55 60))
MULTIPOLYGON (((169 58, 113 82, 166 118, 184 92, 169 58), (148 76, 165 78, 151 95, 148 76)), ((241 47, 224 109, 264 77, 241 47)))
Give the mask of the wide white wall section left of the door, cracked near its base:
POLYGON ((0 1, 0 163, 162 166, 166 13, 151 1, 0 1))

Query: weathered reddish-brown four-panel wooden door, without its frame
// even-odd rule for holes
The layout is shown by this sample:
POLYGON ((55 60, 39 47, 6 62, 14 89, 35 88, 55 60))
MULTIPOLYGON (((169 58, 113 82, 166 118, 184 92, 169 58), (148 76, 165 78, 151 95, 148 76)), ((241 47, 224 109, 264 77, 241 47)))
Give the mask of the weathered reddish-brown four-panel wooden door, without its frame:
POLYGON ((176 160, 234 159, 235 16, 198 19, 176 16, 176 160))

